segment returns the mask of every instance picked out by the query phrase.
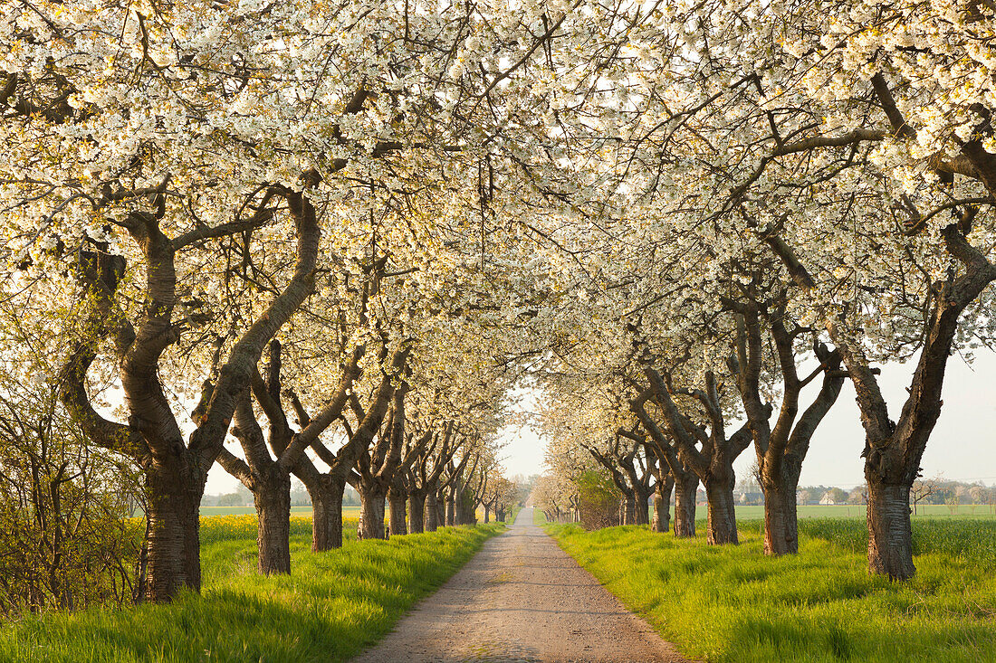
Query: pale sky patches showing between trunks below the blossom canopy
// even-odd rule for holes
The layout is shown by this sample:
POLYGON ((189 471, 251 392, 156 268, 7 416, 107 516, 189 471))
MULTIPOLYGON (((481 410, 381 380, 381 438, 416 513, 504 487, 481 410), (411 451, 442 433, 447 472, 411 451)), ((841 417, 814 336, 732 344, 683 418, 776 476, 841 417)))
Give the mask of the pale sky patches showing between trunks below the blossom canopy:
MULTIPOLYGON (((882 367, 879 385, 892 419, 898 418, 912 371, 912 363, 882 367)), ((819 380, 814 380, 803 391, 801 407, 809 405, 818 389, 819 380)), ((535 411, 535 399, 542 397, 542 393, 523 395, 518 408, 535 411)), ((923 476, 941 474, 949 480, 996 484, 996 353, 980 351, 971 365, 957 356, 951 357, 944 378, 943 400, 940 419, 923 454, 923 476)), ((729 429, 735 430, 735 425, 729 429)), ((545 471, 546 440, 530 427, 506 426, 500 431, 500 439, 505 443, 502 463, 507 476, 545 471)), ((799 485, 851 489, 865 483, 861 458, 864 448, 865 432, 855 402, 855 389, 849 380, 813 437, 799 485)), ((744 451, 734 465, 737 477, 746 477, 754 460, 753 448, 744 451)), ((235 490, 236 484, 237 480, 215 465, 208 475, 207 493, 228 493, 235 490)))

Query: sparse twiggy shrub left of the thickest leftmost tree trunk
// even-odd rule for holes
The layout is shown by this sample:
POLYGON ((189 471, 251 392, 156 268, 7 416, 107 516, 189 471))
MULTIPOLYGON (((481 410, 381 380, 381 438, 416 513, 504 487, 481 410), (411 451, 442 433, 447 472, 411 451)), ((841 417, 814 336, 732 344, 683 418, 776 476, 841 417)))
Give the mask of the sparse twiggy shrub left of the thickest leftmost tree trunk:
POLYGON ((135 476, 0 364, 0 617, 130 599, 135 476))

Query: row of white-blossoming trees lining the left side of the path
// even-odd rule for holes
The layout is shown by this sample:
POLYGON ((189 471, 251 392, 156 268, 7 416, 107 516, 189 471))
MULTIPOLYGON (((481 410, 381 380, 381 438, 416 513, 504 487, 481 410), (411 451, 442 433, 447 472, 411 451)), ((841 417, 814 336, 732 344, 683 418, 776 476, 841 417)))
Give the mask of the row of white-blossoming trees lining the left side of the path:
POLYGON ((263 572, 289 570, 292 475, 319 551, 347 483, 362 538, 507 509, 525 240, 484 207, 530 145, 491 108, 502 58, 454 66, 464 10, 416 5, 0 3, 3 388, 56 394, 138 474, 145 598, 199 588, 215 463, 263 572))

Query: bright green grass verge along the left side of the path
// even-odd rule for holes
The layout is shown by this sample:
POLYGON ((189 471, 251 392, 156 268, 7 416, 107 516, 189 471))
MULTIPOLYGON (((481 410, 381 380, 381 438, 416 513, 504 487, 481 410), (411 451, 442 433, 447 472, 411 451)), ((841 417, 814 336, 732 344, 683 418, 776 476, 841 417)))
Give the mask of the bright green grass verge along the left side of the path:
MULTIPOLYGON (((202 521, 200 595, 168 605, 29 617, 0 628, 0 661, 342 661, 383 636, 503 525, 443 528, 311 552, 311 524, 291 525, 289 576, 256 572, 251 517, 202 521)), ((352 528, 350 527, 352 525, 352 528)))

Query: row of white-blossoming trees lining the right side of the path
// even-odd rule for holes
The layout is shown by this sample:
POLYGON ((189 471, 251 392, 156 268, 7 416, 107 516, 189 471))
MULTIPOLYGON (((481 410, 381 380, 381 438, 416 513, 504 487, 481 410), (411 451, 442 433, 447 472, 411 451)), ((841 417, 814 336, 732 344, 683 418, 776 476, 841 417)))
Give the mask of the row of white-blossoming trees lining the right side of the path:
POLYGON ((601 213, 551 235, 586 275, 536 372, 553 455, 576 461, 560 476, 593 448, 621 449, 624 476, 635 453, 669 469, 675 526, 701 483, 708 541, 735 544, 733 463, 750 449, 765 552, 796 552, 801 468, 850 380, 869 564, 914 573, 910 489, 945 368, 992 337, 992 14, 809 0, 635 12, 615 101, 566 110, 597 106, 597 124, 565 125, 574 144, 603 142, 579 168, 601 213), (891 360, 915 369, 890 410, 876 364, 891 360))

